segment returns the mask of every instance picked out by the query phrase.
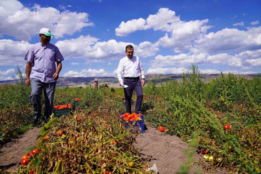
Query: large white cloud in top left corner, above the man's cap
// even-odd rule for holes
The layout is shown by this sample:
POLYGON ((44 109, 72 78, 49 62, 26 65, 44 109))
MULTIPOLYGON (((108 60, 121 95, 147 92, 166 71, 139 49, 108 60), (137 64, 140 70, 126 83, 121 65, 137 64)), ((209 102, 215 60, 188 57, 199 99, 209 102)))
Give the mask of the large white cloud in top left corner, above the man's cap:
POLYGON ((60 12, 56 8, 37 4, 28 8, 15 0, 0 1, 0 37, 10 35, 28 41, 43 27, 49 28, 56 38, 72 35, 94 25, 89 22, 88 16, 87 13, 60 12))

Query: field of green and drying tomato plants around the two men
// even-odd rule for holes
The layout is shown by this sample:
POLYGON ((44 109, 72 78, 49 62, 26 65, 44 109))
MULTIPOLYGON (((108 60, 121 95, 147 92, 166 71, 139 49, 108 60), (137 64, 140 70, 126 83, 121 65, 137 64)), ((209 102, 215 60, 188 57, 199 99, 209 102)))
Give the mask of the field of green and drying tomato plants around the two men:
MULTIPOLYGON (((3 145, 30 124, 33 109, 28 98, 30 87, 0 86, 0 91, 3 145)), ((28 148, 28 153, 33 148, 39 152, 21 165, 19 172, 146 173, 148 163, 137 156, 132 145, 136 135, 120 122, 120 112, 126 111, 123 89, 115 91, 94 90, 91 85, 56 88, 55 105, 83 100, 71 115, 54 118, 42 128, 39 142, 28 148), (61 136, 57 135, 60 130, 61 136)), ((195 153, 213 156, 205 161, 211 166, 260 172, 260 78, 247 80, 229 74, 204 83, 198 72, 190 72, 181 82, 149 81, 143 93, 145 122, 156 129, 164 126, 168 129, 165 134, 181 137, 195 153), (229 127, 224 128, 225 124, 229 127)), ((133 96, 134 106, 135 99, 133 96)))

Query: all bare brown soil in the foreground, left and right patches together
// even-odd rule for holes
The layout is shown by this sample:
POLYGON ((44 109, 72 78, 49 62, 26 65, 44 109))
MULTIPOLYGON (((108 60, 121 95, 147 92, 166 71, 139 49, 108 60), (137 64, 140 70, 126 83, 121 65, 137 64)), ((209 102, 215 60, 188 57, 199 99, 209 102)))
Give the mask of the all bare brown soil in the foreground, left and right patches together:
MULTIPOLYGON (((191 147, 183 142, 179 137, 161 133, 146 123, 148 130, 143 134, 139 134, 136 138, 134 146, 139 150, 139 156, 149 162, 151 167, 154 163, 158 168, 159 174, 171 174, 180 170, 179 165, 186 163, 187 156, 184 150, 191 147)), ((0 168, 5 171, 15 172, 21 162, 21 157, 26 153, 26 148, 36 145, 36 137, 40 134, 41 128, 32 128, 12 142, 4 144, 0 153, 0 168)), ((194 165, 191 167, 190 173, 195 173, 197 168, 201 168, 201 173, 228 173, 227 171, 212 167, 205 164, 197 163, 203 160, 202 155, 194 155, 194 165)))

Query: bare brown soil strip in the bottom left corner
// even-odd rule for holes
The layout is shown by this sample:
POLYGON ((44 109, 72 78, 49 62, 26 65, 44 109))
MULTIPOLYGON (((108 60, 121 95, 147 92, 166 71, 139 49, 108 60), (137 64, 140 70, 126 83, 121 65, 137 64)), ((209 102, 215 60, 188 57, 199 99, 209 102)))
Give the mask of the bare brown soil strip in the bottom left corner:
POLYGON ((41 128, 34 127, 17 139, 4 144, 0 153, 0 169, 9 172, 16 171, 21 162, 21 157, 28 152, 23 152, 26 148, 36 146, 36 137, 40 134, 41 128))

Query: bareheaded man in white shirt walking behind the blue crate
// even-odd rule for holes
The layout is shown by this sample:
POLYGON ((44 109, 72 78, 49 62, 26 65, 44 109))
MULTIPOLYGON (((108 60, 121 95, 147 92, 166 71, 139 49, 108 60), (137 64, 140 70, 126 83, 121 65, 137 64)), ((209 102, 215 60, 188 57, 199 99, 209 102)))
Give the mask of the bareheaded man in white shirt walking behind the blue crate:
POLYGON ((142 63, 137 56, 133 56, 134 48, 131 45, 127 45, 125 48, 126 57, 119 61, 119 66, 117 69, 117 77, 119 79, 119 86, 121 86, 120 81, 122 80, 121 73, 124 75, 124 85, 127 88, 124 89, 125 99, 126 99, 126 110, 127 113, 131 112, 131 98, 133 90, 137 93, 137 100, 135 106, 135 112, 141 111, 141 104, 143 99, 142 86, 145 85, 145 73, 142 63), (142 76, 142 81, 139 79, 139 75, 142 76))

